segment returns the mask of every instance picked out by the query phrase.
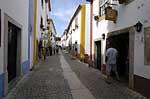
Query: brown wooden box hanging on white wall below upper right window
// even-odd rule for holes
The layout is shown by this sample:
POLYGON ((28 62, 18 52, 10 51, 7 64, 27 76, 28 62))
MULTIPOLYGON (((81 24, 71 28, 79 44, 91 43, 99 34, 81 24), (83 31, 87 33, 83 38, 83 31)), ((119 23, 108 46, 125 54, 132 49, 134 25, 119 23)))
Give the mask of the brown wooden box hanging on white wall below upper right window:
POLYGON ((108 6, 105 8, 105 15, 106 15, 105 19, 116 22, 117 13, 118 13, 117 10, 112 9, 112 7, 108 6))

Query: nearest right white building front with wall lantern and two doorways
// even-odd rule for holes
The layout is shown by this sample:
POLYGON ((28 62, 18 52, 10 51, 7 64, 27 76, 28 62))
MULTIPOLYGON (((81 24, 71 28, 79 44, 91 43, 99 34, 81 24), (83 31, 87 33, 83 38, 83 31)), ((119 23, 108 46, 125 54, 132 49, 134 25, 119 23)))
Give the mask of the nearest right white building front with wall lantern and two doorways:
POLYGON ((100 66, 99 68, 103 69, 107 43, 113 44, 120 55, 117 63, 120 75, 124 72, 129 87, 148 97, 150 96, 146 91, 150 90, 147 86, 150 82, 149 4, 149 0, 127 0, 123 4, 113 0, 94 0, 92 42, 93 60, 96 67, 100 66), (108 5, 118 12, 115 22, 105 19, 105 7, 108 5), (95 20, 94 16, 99 16, 99 19, 95 20), (135 25, 138 22, 142 23, 141 31, 136 30, 135 25), (98 57, 100 57, 99 63, 98 57), (126 61, 128 61, 128 66, 126 61), (97 64, 100 65, 97 66, 97 64))

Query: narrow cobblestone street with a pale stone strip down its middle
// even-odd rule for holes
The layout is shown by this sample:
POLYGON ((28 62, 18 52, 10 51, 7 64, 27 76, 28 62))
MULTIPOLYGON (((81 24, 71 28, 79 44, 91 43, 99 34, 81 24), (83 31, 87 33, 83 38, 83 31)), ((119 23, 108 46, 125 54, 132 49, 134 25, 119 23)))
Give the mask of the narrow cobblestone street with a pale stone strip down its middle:
POLYGON ((147 99, 100 71, 72 59, 66 51, 41 60, 6 99, 147 99))

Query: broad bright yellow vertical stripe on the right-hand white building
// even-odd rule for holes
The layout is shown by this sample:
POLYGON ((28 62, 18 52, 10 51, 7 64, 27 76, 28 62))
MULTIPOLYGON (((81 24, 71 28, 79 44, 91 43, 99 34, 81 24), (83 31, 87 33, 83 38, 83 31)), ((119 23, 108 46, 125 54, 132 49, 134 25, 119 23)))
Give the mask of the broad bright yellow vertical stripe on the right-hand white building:
POLYGON ((80 31, 80 58, 84 59, 85 54, 85 18, 86 6, 81 5, 81 31, 80 31))

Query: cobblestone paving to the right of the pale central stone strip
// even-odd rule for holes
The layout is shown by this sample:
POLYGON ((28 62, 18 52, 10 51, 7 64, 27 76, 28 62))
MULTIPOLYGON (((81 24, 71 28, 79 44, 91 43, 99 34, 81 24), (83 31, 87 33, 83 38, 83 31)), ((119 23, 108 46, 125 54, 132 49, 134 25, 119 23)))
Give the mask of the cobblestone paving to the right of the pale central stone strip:
POLYGON ((107 84, 99 70, 73 60, 68 53, 64 53, 64 56, 72 70, 96 99, 147 99, 120 82, 113 81, 112 84, 107 84))

